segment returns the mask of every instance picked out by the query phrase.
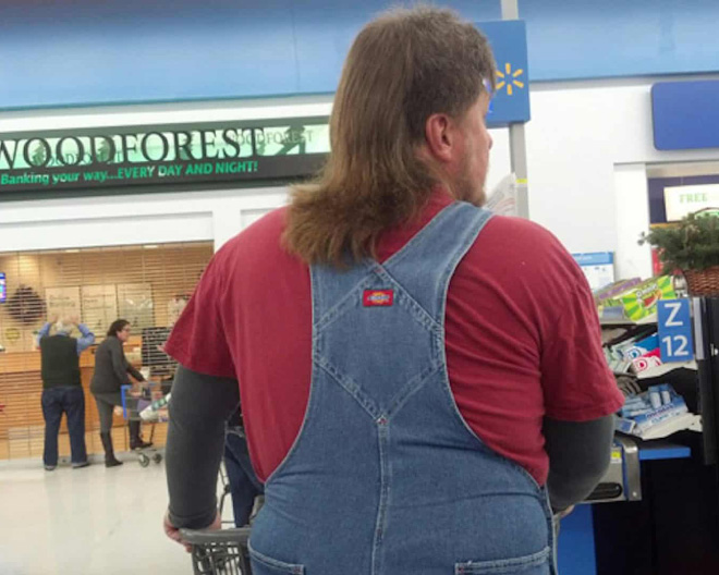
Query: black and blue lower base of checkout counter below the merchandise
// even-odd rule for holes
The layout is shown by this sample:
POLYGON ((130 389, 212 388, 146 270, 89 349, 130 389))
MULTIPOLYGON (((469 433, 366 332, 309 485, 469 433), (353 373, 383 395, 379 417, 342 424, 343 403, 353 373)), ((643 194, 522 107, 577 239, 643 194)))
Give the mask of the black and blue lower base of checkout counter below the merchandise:
POLYGON ((605 477, 561 521, 560 574, 719 573, 719 482, 702 442, 618 435, 605 477))

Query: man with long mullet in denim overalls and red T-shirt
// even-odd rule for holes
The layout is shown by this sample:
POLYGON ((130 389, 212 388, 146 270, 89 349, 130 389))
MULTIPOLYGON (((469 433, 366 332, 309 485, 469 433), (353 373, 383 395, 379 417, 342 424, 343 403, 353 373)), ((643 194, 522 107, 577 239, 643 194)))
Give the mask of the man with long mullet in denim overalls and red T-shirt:
POLYGON ((447 10, 361 30, 324 171, 218 252, 167 344, 171 538, 217 526, 241 396, 255 575, 556 573, 622 395, 572 257, 482 208, 493 78, 447 10))

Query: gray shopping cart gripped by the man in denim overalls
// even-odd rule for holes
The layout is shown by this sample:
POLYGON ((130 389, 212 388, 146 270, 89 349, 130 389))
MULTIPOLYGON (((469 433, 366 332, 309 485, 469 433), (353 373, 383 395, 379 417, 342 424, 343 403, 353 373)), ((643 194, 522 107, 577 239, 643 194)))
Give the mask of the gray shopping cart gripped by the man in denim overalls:
POLYGON ((252 575, 247 551, 249 529, 181 529, 183 539, 192 546, 195 575, 252 575))

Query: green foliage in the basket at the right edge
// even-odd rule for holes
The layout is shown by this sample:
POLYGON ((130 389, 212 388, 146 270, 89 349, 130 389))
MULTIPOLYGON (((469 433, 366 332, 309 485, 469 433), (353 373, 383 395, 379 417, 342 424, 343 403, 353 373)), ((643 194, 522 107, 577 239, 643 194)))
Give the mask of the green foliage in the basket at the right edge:
POLYGON ((719 266, 719 217, 716 211, 691 213, 678 223, 642 234, 639 245, 659 249, 665 273, 719 266))

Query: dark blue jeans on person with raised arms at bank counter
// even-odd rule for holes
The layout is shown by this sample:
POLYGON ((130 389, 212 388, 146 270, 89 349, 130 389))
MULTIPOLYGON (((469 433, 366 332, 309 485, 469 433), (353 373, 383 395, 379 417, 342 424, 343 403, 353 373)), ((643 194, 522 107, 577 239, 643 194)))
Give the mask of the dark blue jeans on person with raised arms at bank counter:
POLYGON ((72 463, 85 463, 85 393, 80 386, 42 390, 42 416, 45 417, 45 465, 58 465, 58 432, 62 414, 68 416, 72 463))

